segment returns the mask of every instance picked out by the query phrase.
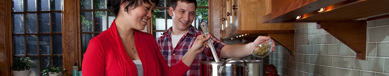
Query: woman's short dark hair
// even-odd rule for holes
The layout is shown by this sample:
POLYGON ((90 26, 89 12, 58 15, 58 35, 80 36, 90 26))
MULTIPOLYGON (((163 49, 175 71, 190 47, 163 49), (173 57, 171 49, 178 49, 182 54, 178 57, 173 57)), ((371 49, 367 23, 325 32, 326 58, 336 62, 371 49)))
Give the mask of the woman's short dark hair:
MULTIPOLYGON (((126 2, 128 2, 128 5, 126 5, 126 7, 124 7, 124 11, 126 11, 126 12, 128 12, 129 7, 133 7, 130 9, 130 10, 132 10, 132 9, 137 8, 139 5, 142 5, 142 3, 148 3, 151 5, 149 0, 108 0, 107 7, 111 10, 112 13, 115 14, 115 17, 116 17, 117 14, 119 14, 120 5, 122 5, 123 3, 126 3, 126 2)), ((151 2, 155 3, 155 6, 157 6, 159 3, 159 0, 151 0, 151 2)))

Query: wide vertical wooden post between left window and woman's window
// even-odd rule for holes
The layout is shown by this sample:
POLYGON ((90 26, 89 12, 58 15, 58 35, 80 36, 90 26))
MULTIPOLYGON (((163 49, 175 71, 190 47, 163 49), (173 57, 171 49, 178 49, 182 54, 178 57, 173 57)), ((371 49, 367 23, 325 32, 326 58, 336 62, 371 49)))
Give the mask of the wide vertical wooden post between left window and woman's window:
POLYGON ((72 66, 77 61, 77 39, 79 29, 79 0, 63 0, 62 12, 62 60, 67 74, 72 74, 72 66))

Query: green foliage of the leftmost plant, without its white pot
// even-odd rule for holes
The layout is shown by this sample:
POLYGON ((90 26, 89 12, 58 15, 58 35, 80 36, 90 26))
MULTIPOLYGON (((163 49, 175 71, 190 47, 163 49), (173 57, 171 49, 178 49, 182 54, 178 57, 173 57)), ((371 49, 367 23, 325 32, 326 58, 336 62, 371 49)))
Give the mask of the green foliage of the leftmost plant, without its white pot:
POLYGON ((29 57, 21 57, 12 64, 11 69, 14 71, 25 71, 30 70, 32 67, 32 62, 28 61, 29 57))

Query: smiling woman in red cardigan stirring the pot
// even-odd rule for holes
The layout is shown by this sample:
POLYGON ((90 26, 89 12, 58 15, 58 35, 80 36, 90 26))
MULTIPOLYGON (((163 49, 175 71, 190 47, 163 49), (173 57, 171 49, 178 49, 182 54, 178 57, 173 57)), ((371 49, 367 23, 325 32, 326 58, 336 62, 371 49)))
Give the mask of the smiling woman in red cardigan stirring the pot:
POLYGON ((153 35, 143 30, 158 0, 110 0, 111 27, 89 41, 82 76, 182 76, 210 37, 200 35, 176 64, 168 66, 153 35))

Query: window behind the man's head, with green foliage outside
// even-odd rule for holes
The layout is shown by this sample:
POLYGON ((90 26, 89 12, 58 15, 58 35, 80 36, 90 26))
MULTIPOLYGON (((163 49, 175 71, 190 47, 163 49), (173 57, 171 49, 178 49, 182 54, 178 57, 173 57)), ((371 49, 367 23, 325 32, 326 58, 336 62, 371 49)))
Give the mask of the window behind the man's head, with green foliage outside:
MULTIPOLYGON (((159 0, 152 16, 152 34, 155 38, 172 27, 172 17, 169 15, 170 0, 159 0)), ((201 22, 208 23, 208 0, 197 0, 196 17, 192 22, 195 29, 201 30, 201 22)))

